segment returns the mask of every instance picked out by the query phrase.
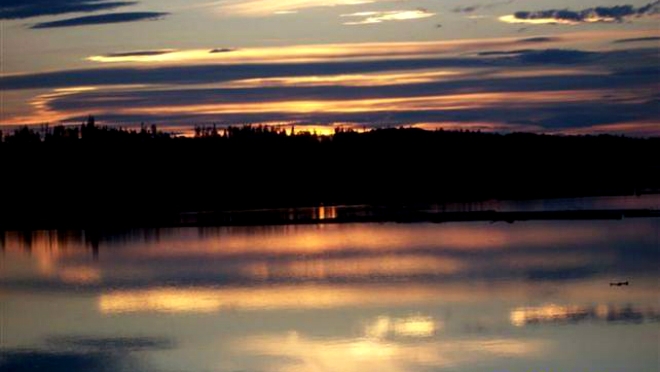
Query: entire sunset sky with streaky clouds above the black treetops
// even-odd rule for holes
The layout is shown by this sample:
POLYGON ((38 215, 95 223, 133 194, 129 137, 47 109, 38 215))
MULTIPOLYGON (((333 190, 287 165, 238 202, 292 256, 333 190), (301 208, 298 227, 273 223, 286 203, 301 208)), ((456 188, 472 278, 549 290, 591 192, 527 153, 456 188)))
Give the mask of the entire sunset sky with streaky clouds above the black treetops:
POLYGON ((660 135, 660 1, 3 0, 0 125, 660 135))

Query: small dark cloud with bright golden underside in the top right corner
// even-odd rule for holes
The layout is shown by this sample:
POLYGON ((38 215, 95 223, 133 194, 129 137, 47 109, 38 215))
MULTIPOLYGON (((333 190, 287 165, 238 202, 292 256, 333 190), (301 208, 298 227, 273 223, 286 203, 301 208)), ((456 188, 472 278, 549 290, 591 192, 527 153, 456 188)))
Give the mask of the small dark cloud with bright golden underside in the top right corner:
POLYGON ((617 5, 612 7, 595 7, 579 11, 569 9, 521 11, 502 16, 500 17, 500 21, 516 24, 577 25, 581 23, 623 22, 625 20, 655 15, 659 12, 660 0, 639 8, 632 5, 617 5))

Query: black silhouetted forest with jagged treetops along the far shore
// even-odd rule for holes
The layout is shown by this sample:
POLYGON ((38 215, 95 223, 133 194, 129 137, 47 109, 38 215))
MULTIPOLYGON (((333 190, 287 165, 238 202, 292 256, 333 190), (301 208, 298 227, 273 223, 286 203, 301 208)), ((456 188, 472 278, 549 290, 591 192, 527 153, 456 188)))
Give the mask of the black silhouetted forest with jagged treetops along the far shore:
POLYGON ((0 134, 0 229, 172 224, 181 212, 421 205, 660 190, 660 138, 415 128, 20 128, 0 134))

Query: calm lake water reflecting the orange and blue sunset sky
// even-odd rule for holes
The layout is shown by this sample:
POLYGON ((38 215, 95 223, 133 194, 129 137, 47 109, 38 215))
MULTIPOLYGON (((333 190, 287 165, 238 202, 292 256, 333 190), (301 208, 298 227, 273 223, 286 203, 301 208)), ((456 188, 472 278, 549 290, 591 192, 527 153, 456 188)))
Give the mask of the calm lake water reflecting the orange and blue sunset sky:
POLYGON ((0 233, 0 370, 657 371, 659 237, 657 218, 0 233))

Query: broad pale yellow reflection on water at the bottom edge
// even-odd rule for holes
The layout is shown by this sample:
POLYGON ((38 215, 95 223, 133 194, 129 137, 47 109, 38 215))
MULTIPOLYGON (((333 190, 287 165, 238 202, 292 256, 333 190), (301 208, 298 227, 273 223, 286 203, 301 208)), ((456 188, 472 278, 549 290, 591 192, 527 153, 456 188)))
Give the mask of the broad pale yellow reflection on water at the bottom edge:
POLYGON ((403 372, 457 367, 474 360, 531 357, 543 352, 534 339, 484 338, 419 343, 373 338, 314 339, 292 331, 245 338, 234 345, 240 352, 284 358, 278 371, 403 372))

